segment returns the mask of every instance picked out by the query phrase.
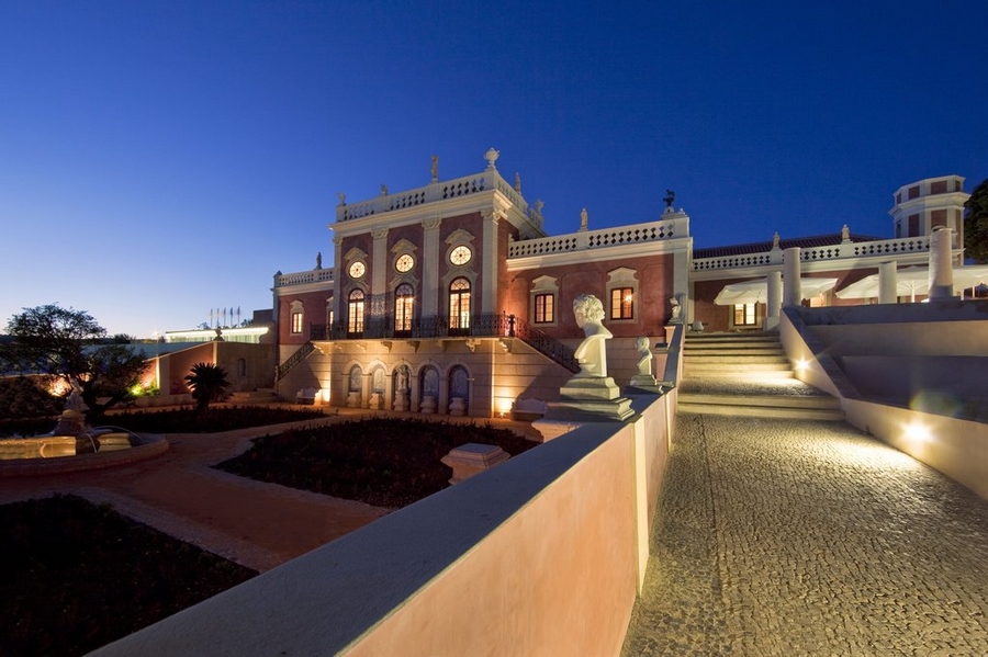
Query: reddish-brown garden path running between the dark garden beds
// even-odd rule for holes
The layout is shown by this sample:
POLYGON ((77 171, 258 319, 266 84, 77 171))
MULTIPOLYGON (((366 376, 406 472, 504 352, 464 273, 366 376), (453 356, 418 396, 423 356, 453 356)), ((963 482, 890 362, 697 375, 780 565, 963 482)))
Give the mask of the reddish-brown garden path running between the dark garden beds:
MULTIPOLYGON (((124 516, 177 539, 249 568, 269 570, 373 522, 390 510, 265 484, 211 466, 243 453, 254 438, 292 426, 353 420, 371 414, 330 411, 333 416, 294 424, 168 434, 169 450, 165 454, 112 469, 5 479, 0 486, 0 505, 56 494, 110 502, 124 516)), ((491 423, 516 424, 497 420, 491 423)))

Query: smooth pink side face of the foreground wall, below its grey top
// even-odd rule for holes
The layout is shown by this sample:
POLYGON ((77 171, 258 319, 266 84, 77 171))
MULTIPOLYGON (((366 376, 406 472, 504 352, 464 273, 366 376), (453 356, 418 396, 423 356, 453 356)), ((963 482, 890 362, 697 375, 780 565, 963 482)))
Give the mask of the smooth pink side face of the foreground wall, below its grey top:
POLYGON ((347 654, 617 655, 637 586, 631 449, 627 426, 347 654))

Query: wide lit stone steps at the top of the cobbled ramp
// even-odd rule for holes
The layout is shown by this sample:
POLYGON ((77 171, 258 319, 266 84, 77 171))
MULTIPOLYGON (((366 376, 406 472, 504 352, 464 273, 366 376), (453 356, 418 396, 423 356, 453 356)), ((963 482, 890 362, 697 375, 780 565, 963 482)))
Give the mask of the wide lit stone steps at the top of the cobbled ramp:
POLYGON ((840 400, 796 378, 776 333, 686 337, 678 410, 842 421, 840 400))

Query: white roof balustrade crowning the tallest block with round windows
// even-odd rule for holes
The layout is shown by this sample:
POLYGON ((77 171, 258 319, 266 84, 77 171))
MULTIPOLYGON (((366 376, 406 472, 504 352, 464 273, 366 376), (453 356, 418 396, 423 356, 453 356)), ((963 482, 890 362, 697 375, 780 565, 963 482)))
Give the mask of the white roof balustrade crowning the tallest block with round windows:
MULTIPOLYGON (((487 169, 483 173, 474 175, 464 175, 454 180, 434 182, 424 188, 398 192, 395 194, 381 194, 370 201, 361 201, 358 203, 343 202, 336 206, 336 220, 349 222, 351 219, 362 219, 374 215, 380 215, 427 203, 436 203, 471 194, 479 194, 487 190, 497 190, 512 202, 512 204, 541 233, 542 215, 535 207, 529 206, 520 193, 515 191, 510 184, 504 180, 496 169, 487 169)), ((536 204, 538 205, 538 204, 536 204)))

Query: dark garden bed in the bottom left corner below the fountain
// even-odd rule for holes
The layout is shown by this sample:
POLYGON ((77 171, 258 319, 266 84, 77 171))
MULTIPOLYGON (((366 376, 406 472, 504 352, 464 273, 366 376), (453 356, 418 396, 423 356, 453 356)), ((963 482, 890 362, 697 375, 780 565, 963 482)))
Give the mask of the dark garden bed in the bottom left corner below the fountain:
POLYGON ((0 528, 0 655, 82 655, 257 575, 74 496, 0 528))

